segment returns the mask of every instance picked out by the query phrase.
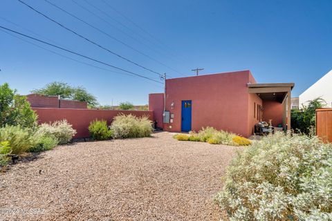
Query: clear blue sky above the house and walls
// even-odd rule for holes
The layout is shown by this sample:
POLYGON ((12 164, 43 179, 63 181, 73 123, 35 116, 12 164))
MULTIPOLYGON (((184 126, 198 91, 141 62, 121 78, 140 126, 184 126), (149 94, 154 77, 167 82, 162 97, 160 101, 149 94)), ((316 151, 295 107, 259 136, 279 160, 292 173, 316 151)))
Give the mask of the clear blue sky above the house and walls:
MULTIPOLYGON (((50 6, 44 0, 24 1, 68 28, 142 66, 173 77, 181 77, 174 70, 119 44, 50 6)), ((205 68, 202 74, 251 70, 259 83, 295 82, 293 96, 298 96, 332 69, 330 0, 105 0, 167 47, 117 14, 102 0, 86 1, 107 12, 109 17, 89 6, 84 0, 75 1, 108 23, 71 0, 49 1, 184 75, 193 75, 190 70, 196 67, 205 68)), ((0 25, 158 79, 158 75, 93 46, 46 20, 19 1, 1 1, 0 25), (8 23, 3 18, 32 32, 8 23)), ((55 51, 107 68, 66 52, 55 51)), ((101 104, 111 104, 113 99, 113 104, 116 105, 121 101, 147 104, 149 93, 163 91, 162 84, 86 66, 1 31, 0 69, 0 82, 8 82, 21 94, 27 94, 33 88, 40 88, 50 81, 64 81, 73 86, 84 86, 98 97, 101 104)))

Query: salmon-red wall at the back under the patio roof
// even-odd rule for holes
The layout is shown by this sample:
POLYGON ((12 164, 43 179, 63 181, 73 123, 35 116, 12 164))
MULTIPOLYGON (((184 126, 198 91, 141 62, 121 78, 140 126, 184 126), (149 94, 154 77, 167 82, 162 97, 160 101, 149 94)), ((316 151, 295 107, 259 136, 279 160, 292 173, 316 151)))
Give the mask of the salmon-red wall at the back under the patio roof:
POLYGON ((272 119, 272 125, 278 126, 282 124, 282 117, 284 113, 284 107, 281 103, 275 101, 264 101, 263 102, 263 120, 268 122, 272 119))

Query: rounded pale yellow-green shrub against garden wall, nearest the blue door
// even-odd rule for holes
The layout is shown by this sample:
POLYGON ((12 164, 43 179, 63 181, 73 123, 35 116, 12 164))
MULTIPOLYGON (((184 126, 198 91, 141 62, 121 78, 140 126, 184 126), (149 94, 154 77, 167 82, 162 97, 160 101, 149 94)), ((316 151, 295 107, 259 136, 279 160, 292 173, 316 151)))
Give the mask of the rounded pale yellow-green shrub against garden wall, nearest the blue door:
POLYGON ((118 115, 111 124, 114 138, 149 137, 153 131, 152 122, 147 117, 118 115))

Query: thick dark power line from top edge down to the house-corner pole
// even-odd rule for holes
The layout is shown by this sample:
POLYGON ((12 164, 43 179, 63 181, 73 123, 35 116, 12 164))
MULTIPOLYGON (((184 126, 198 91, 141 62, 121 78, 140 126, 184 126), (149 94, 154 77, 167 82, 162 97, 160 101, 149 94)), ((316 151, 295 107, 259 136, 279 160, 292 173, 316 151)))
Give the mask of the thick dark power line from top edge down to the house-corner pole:
POLYGON ((48 16, 45 15, 44 13, 39 12, 39 10, 36 10, 36 9, 33 8, 32 6, 29 6, 29 5, 28 5, 27 3, 25 3, 24 1, 21 1, 21 0, 17 0, 17 1, 23 3, 25 6, 27 6, 27 7, 30 8, 31 10, 37 12, 39 15, 42 15, 42 16, 46 17, 46 19, 48 19, 48 20, 50 20, 50 21, 53 21, 54 23, 57 23, 57 25, 61 26, 62 28, 66 29, 66 30, 68 30, 69 32, 72 32, 73 34, 77 35, 78 37, 81 37, 82 39, 85 39, 86 41, 89 41, 91 44, 94 44, 95 46, 98 46, 99 48, 102 48, 102 49, 106 50, 107 52, 110 52, 112 55, 116 55, 116 56, 120 57, 121 59, 124 59, 124 60, 130 62, 131 64, 135 64, 136 66, 139 66, 140 68, 143 68, 143 69, 145 69, 145 70, 149 70, 151 73, 155 73, 155 74, 157 74, 157 75, 159 75, 159 76, 161 75, 160 73, 158 73, 158 72, 156 72, 156 71, 154 71, 154 70, 151 70, 151 69, 149 69, 149 68, 145 68, 145 66, 142 66, 142 65, 140 65, 140 64, 137 64, 136 62, 131 61, 130 59, 127 59, 126 57, 123 57, 122 55, 118 55, 116 52, 113 52, 113 51, 109 50, 108 48, 105 48, 104 46, 101 46, 100 44, 96 43, 95 41, 91 41, 90 39, 84 37, 83 35, 78 34, 78 33, 75 32, 74 30, 71 30, 70 28, 67 28, 66 26, 62 25, 62 23, 59 23, 59 22, 55 21, 54 19, 51 19, 50 17, 48 17, 48 16))

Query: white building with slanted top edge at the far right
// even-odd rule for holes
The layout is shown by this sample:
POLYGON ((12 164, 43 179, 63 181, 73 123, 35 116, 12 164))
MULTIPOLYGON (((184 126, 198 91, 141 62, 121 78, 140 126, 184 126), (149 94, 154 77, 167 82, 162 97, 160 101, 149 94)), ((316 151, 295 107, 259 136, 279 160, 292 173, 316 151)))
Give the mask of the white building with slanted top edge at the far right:
POLYGON ((308 101, 317 97, 326 101, 326 107, 332 107, 332 70, 299 95, 299 108, 302 104, 306 106, 308 101))

